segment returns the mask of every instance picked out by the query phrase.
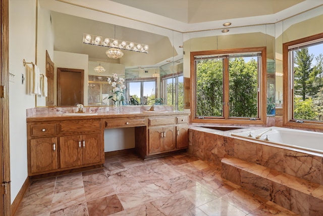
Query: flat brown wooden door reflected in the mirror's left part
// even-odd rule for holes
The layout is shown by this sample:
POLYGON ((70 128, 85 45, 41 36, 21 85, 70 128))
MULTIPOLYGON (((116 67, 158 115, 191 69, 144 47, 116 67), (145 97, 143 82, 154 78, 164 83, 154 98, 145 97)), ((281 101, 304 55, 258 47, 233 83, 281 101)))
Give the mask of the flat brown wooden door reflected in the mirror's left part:
POLYGON ((83 103, 84 70, 57 68, 58 106, 83 103))

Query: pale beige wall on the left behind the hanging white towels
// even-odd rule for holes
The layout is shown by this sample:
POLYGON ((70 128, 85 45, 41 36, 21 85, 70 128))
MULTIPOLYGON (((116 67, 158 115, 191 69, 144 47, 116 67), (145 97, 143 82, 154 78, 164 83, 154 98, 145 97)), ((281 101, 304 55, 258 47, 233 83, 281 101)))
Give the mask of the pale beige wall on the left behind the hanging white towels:
POLYGON ((23 59, 35 62, 35 15, 34 0, 9 1, 9 72, 15 75, 9 82, 12 202, 28 177, 26 109, 35 107, 35 96, 29 93, 27 85, 32 67, 30 64, 24 67, 22 62, 23 59))

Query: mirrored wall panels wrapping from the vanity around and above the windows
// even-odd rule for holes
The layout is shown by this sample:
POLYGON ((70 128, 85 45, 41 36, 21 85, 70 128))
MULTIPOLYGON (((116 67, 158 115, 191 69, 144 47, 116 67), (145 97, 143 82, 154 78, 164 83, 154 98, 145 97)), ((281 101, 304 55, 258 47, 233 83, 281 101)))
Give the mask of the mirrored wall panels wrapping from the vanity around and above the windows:
MULTIPOLYGON (((86 9, 72 10, 71 5, 62 9, 56 8, 54 3, 46 4, 46 0, 38 2, 37 65, 45 71, 47 50, 55 70, 58 67, 84 68, 85 105, 112 105, 112 101, 104 100, 111 94, 111 86, 105 80, 117 73, 126 80, 127 105, 164 103, 181 110, 182 98, 186 97, 183 96, 183 79, 190 77, 190 52, 266 47, 267 105, 274 107, 267 111, 268 115, 282 114, 283 43, 321 32, 317 23, 322 21, 323 10, 318 7, 275 24, 229 28, 227 33, 217 29, 183 34, 136 21, 115 21, 114 17, 90 10, 82 14, 86 9), (82 44, 83 33, 147 44, 148 54, 125 51, 122 58, 110 59, 105 55, 106 48, 82 44), (97 74, 94 68, 99 64, 106 70, 97 74), (136 100, 129 103, 131 98, 136 100)), ((36 106, 45 104, 45 98, 37 97, 36 106)))

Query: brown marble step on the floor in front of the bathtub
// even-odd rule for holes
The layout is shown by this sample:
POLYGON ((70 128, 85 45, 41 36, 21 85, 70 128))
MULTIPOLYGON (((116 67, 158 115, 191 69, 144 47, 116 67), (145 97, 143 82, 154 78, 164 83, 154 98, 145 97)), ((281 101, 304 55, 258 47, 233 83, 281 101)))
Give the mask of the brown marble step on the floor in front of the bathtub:
POLYGON ((323 215, 323 186, 238 158, 222 158, 221 176, 302 216, 323 215))

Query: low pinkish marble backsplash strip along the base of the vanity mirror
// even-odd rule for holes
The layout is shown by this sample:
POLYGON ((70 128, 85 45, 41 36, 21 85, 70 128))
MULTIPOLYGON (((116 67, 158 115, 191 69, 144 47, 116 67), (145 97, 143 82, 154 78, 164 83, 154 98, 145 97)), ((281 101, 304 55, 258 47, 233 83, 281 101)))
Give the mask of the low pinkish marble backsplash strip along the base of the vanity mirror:
MULTIPOLYGON (((151 106, 122 106, 121 112, 122 113, 142 113, 149 110, 151 106)), ((158 105, 154 106, 155 112, 164 112, 169 111, 173 112, 174 107, 168 105, 158 105)), ((27 117, 33 117, 35 115, 60 115, 65 113, 75 113, 78 111, 76 106, 71 107, 34 107, 26 110, 27 117)), ((117 108, 114 106, 85 106, 84 112, 86 113, 116 113, 117 108)))

